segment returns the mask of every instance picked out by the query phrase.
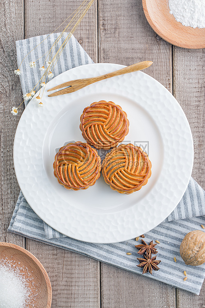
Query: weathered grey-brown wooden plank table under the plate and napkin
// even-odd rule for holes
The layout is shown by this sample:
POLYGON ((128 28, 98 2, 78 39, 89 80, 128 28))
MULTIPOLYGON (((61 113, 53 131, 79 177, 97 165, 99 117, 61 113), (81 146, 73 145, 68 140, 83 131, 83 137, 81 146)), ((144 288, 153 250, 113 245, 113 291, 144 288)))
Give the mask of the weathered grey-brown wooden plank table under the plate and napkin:
MULTIPOLYGON (((200 296, 93 259, 8 233, 19 193, 12 160, 22 99, 15 41, 51 33, 81 0, 0 1, 0 240, 32 252, 45 266, 53 288, 52 308, 204 308, 200 296)), ((141 0, 95 0, 76 39, 94 62, 131 65, 153 61, 146 73, 160 81, 181 104, 195 145, 193 177, 205 188, 205 50, 188 50, 163 41, 147 23, 141 0)))

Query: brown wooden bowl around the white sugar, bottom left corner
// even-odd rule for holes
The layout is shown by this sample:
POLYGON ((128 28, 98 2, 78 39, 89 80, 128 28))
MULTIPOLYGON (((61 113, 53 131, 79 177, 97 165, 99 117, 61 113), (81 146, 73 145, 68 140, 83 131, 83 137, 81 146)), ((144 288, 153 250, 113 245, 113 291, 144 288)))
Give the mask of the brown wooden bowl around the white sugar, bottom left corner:
POLYGON ((34 295, 28 307, 50 308, 52 300, 51 283, 45 268, 39 260, 32 253, 20 246, 0 242, 0 259, 5 258, 7 258, 7 261, 15 261, 17 266, 19 265, 19 271, 24 273, 25 279, 28 278, 28 288, 34 295), (22 266, 24 266, 24 269, 27 267, 28 270, 20 269, 22 266), (35 288, 32 288, 32 282, 35 284, 35 288))

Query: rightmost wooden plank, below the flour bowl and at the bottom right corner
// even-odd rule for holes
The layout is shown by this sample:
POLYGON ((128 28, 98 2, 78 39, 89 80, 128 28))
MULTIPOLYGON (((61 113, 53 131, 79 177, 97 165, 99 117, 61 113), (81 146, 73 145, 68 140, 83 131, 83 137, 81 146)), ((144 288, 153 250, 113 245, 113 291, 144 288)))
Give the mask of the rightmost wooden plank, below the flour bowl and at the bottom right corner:
MULTIPOLYGON (((205 50, 173 47, 173 88, 193 134, 195 159, 192 176, 205 189, 205 50)), ((187 273, 189 277, 188 270, 187 273)), ((200 296, 178 290, 177 301, 178 308, 204 307, 205 283, 200 296)))

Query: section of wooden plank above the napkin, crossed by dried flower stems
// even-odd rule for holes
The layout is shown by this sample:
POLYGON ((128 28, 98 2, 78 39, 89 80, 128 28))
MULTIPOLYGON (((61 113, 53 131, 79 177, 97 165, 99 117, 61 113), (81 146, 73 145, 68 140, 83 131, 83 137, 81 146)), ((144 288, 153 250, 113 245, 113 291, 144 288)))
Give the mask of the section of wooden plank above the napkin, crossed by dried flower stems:
MULTIPOLYGON (((25 37, 52 33, 74 12, 82 0, 25 1, 25 37)), ((57 32, 64 30, 64 23, 57 32)), ((94 1, 74 36, 94 62, 97 62, 97 3, 94 1)))

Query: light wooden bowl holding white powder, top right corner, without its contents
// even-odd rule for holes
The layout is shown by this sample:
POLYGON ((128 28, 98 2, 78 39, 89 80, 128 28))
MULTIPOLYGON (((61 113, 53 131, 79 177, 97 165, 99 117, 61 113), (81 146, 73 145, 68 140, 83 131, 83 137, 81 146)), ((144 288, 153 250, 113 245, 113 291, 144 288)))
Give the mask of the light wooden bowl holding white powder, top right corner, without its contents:
POLYGON ((168 2, 169 0, 142 0, 144 14, 152 29, 175 46, 205 48, 205 28, 183 26, 170 14, 168 2))

